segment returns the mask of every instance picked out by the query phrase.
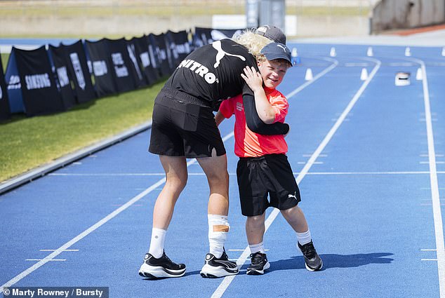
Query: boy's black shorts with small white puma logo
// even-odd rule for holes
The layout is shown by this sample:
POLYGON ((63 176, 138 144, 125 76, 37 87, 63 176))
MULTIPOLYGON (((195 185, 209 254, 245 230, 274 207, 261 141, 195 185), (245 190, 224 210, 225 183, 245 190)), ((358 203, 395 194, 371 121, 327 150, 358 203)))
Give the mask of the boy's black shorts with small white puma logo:
POLYGON ((291 165, 284 154, 239 158, 237 179, 241 213, 245 216, 262 215, 270 206, 286 210, 301 201, 291 165), (268 194, 270 201, 267 201, 268 194))

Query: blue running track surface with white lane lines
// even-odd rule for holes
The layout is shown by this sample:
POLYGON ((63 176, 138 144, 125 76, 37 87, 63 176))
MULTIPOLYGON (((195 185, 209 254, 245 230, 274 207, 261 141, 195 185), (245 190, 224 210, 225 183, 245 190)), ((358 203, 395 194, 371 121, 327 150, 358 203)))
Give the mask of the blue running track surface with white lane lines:
POLYGON ((295 233, 268 210, 270 270, 246 275, 230 119, 220 128, 230 172, 226 250, 242 265, 239 275, 199 275, 208 251, 208 187, 190 160, 166 239, 166 253, 187 273, 138 276, 164 184, 145 131, 0 196, 0 291, 91 286, 109 287, 109 297, 445 298, 441 48, 411 47, 407 56, 404 46, 373 46, 371 56, 364 45, 289 46, 301 64, 279 86, 291 104, 288 158, 322 271, 305 269, 295 233), (410 72, 411 84, 395 86, 397 72, 410 72))

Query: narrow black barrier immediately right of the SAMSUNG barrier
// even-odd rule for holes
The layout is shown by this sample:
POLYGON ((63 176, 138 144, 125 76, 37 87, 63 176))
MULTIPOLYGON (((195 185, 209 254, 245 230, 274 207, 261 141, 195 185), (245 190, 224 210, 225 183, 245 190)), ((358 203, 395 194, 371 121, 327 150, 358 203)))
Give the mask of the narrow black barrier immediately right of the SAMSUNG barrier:
POLYGON ((74 91, 72 90, 72 78, 68 73, 68 63, 65 58, 65 49, 62 46, 49 46, 50 60, 53 65, 55 79, 58 83, 58 90, 67 108, 76 104, 74 91))

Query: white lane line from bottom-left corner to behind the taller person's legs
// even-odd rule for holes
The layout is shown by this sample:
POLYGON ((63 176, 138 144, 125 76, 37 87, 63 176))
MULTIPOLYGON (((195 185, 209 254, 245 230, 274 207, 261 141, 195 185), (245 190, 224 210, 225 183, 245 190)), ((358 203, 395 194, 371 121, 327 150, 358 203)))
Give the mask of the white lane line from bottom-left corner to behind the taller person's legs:
MULTIPOLYGON (((232 137, 232 136, 233 136, 233 132, 229 133, 228 135, 223 137, 223 141, 226 141, 227 139, 230 139, 230 137, 232 137)), ((189 162, 187 162, 187 167, 192 165, 192 164, 194 164, 194 163, 196 163, 196 162, 197 162, 196 159, 190 160, 189 162)), ((83 231, 82 233, 77 235, 76 237, 72 238, 70 241, 68 241, 64 245, 60 246, 60 248, 58 248, 57 250, 54 250, 54 252, 52 252, 50 255, 46 256, 44 259, 39 259, 39 262, 37 262, 36 264, 30 266, 25 271, 22 271, 22 273, 19 273, 17 276, 12 278, 11 280, 8 280, 8 282, 4 283, 4 285, 1 285, 1 287, 0 287, 0 294, 3 292, 5 287, 11 287, 11 285, 14 285, 19 280, 22 280, 22 278, 25 278, 26 276, 28 276, 33 271, 36 271, 41 266, 44 266, 44 264, 46 264, 48 262, 51 262, 55 257, 60 255, 62 252, 64 252, 68 248, 70 248, 75 243, 81 241, 81 239, 83 239, 84 237, 88 236, 90 233, 92 233, 96 229, 100 228, 100 226, 102 226, 103 224, 109 222, 109 220, 111 220, 114 217, 116 217, 117 215, 119 215, 119 213, 121 213, 122 211, 126 210, 128 207, 130 207, 131 205, 133 205, 134 203, 139 201, 141 198, 147 196, 147 194, 150 194, 150 192, 152 192, 154 189, 157 189, 157 187, 161 186, 165 182, 166 182, 166 179, 164 177, 161 180, 159 180, 158 182, 152 184, 151 187, 145 189, 145 191, 142 191, 140 194, 138 194, 138 196, 135 196, 135 197, 131 198, 130 201, 128 201, 127 203, 125 203, 121 207, 117 208, 116 210, 111 212, 106 217, 100 219, 99 222, 96 222, 95 224, 93 224, 93 226, 90 226, 88 229, 86 229, 85 231, 83 231)))

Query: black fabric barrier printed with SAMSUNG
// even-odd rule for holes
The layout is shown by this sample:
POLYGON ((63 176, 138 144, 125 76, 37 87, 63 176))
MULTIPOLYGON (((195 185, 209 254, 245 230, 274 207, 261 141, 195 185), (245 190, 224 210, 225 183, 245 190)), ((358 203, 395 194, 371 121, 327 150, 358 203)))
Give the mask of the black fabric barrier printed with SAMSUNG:
POLYGON ((60 97, 45 46, 36 50, 13 47, 13 52, 22 86, 25 114, 34 116, 65 111, 69 103, 60 97))

